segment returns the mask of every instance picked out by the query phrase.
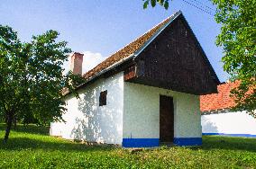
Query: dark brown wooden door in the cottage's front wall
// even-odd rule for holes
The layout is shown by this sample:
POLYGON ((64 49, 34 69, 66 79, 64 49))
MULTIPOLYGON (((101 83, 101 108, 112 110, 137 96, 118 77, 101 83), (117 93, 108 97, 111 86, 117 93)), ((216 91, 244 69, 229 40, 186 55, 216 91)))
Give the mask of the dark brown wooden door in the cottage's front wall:
POLYGON ((173 98, 160 95, 160 142, 173 142, 174 107, 173 98))

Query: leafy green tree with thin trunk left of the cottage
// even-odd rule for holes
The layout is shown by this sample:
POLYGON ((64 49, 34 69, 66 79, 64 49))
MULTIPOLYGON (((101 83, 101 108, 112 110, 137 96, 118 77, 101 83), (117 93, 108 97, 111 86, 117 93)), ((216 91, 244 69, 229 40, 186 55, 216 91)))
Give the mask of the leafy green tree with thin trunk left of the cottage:
POLYGON ((0 25, 0 116, 6 118, 4 142, 7 142, 14 117, 33 116, 41 124, 62 120, 66 111, 61 93, 71 93, 83 80, 71 72, 62 75, 63 62, 70 49, 66 41, 58 41, 57 31, 33 36, 21 42, 17 32, 0 25))

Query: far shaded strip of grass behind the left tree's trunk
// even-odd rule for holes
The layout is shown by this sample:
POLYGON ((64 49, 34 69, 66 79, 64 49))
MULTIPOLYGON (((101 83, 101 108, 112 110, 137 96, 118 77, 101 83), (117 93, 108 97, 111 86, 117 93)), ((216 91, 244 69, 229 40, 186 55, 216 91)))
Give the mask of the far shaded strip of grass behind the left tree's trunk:
MULTIPOLYGON (((5 130, 6 125, 5 123, 0 123, 0 130, 5 130)), ((30 134, 41 134, 41 135, 49 135, 49 127, 42 127, 42 126, 36 126, 33 124, 29 125, 23 125, 23 124, 17 124, 16 129, 14 129, 14 126, 11 129, 15 132, 23 132, 23 133, 30 133, 30 134)))

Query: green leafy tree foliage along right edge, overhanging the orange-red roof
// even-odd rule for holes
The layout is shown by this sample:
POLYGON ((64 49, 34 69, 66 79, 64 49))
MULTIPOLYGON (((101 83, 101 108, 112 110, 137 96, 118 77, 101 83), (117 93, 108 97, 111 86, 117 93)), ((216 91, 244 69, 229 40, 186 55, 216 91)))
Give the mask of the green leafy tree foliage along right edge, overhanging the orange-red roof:
POLYGON ((215 20, 222 24, 216 44, 223 47, 224 70, 241 82, 233 89, 236 111, 256 117, 256 1, 213 0, 215 20))

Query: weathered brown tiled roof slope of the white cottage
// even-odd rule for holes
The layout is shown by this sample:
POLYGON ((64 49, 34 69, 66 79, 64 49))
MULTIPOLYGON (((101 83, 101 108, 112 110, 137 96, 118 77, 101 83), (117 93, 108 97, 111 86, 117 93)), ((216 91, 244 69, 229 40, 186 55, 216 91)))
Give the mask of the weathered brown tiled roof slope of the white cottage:
POLYGON ((140 38, 134 40, 133 42, 129 43, 123 49, 118 50, 113 55, 111 55, 109 58, 106 58, 103 62, 98 64, 93 69, 89 70, 86 74, 83 75, 86 79, 89 79, 93 76, 96 76, 99 72, 104 70, 107 67, 111 67, 114 65, 114 63, 117 63, 118 61, 121 61, 123 58, 127 58, 130 55, 132 55, 134 52, 136 52, 138 49, 141 49, 144 44, 148 40, 151 39, 153 35, 155 35, 158 31, 160 31, 160 28, 165 26, 171 19, 173 19, 175 16, 177 16, 180 12, 174 13, 173 15, 169 16, 166 20, 163 22, 160 22, 158 25, 153 27, 150 31, 147 31, 144 33, 140 38))

